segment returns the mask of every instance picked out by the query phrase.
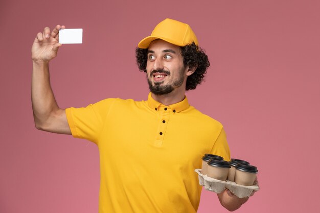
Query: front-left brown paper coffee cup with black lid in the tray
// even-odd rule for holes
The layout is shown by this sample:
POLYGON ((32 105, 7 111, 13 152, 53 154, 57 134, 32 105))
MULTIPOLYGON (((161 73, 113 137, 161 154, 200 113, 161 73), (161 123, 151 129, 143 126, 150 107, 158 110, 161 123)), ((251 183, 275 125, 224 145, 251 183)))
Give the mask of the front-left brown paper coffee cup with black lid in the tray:
POLYGON ((208 177, 226 181, 230 169, 230 162, 211 159, 208 162, 208 177))

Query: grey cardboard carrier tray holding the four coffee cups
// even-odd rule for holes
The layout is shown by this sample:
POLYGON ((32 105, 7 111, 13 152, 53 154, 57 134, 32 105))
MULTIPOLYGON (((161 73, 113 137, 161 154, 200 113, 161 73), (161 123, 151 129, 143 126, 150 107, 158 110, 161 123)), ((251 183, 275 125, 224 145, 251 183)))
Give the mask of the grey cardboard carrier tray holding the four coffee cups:
POLYGON ((205 190, 212 191, 215 193, 221 193, 225 190, 225 188, 227 188, 238 198, 246 198, 246 197, 249 197, 253 191, 259 190, 258 185, 245 186, 245 185, 238 185, 235 182, 232 182, 229 180, 228 181, 217 180, 217 179, 208 177, 207 175, 202 175, 201 169, 196 169, 195 172, 198 173, 199 184, 204 186, 205 190))

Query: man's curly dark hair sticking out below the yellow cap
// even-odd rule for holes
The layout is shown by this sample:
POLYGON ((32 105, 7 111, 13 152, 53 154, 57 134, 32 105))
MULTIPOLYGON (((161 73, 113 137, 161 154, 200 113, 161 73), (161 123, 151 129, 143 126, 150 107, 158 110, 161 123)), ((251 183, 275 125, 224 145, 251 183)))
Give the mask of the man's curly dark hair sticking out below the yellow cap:
MULTIPOLYGON (((184 65, 190 68, 197 67, 195 72, 187 78, 186 90, 195 89, 203 80, 207 68, 210 66, 208 56, 194 42, 181 46, 181 55, 184 58, 184 65)), ((135 49, 136 64, 141 72, 147 72, 148 49, 135 49)))

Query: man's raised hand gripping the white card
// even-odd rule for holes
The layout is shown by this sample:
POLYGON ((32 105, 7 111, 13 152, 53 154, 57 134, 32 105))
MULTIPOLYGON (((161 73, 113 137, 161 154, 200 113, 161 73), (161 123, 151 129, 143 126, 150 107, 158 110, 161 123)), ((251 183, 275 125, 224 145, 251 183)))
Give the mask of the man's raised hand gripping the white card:
POLYGON ((50 33, 50 28, 46 27, 43 33, 38 33, 33 41, 31 53, 35 62, 49 62, 57 56, 58 49, 62 45, 59 43, 59 30, 65 26, 57 25, 50 33))

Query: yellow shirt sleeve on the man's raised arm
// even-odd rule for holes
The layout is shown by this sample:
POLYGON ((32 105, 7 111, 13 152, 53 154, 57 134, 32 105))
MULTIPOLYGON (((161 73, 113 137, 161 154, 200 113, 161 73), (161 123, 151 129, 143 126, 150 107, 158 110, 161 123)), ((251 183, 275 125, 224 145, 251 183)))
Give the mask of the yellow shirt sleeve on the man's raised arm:
POLYGON ((105 99, 87 107, 65 109, 72 135, 98 144, 99 135, 115 100, 105 99))

